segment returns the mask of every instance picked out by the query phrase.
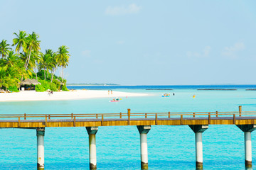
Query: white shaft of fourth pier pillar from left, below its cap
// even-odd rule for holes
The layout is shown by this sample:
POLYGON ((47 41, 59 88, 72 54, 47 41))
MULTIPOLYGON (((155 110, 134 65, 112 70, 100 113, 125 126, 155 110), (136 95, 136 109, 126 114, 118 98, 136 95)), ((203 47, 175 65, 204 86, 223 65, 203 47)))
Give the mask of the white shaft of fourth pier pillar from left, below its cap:
POLYGON ((203 142, 202 142, 202 132, 196 132, 196 168, 203 168, 203 142))

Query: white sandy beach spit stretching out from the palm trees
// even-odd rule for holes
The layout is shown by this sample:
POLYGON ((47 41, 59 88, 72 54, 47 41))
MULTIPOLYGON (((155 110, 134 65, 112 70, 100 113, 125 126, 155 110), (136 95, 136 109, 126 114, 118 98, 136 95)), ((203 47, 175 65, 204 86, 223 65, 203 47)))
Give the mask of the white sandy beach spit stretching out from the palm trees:
POLYGON ((58 91, 53 92, 50 96, 48 92, 36 91, 21 91, 18 93, 0 93, 0 102, 3 101, 60 101, 60 100, 76 100, 82 98, 116 98, 129 96, 147 96, 148 94, 127 93, 113 91, 113 94, 108 94, 108 91, 99 90, 76 90, 76 91, 58 91))

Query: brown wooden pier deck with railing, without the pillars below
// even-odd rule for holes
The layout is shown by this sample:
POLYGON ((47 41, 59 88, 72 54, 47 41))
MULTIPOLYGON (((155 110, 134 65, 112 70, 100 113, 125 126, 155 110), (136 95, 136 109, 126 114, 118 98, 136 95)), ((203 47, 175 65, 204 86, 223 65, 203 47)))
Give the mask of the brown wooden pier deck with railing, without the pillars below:
POLYGON ((0 128, 122 125, 253 125, 256 112, 95 113, 0 115, 0 128))

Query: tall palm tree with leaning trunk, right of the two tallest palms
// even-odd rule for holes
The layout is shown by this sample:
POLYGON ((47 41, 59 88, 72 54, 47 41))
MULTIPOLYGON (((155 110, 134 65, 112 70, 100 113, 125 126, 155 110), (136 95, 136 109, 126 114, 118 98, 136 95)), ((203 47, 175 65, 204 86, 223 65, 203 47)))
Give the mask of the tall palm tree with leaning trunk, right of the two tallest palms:
POLYGON ((26 38, 26 42, 27 42, 27 48, 26 48, 26 52, 28 53, 28 57, 26 58, 26 62, 25 62, 25 69, 28 68, 28 64, 29 64, 29 60, 31 57, 31 52, 32 51, 38 51, 40 50, 40 40, 38 40, 39 36, 33 32, 32 34, 29 34, 28 37, 26 38))

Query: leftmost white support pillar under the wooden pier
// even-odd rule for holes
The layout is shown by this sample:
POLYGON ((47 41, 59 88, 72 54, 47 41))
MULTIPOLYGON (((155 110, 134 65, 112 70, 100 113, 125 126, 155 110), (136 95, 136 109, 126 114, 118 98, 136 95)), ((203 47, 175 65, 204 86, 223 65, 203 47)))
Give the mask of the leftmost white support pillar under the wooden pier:
POLYGON ((37 137, 37 169, 44 169, 44 135, 45 128, 37 128, 36 129, 36 137, 37 137))

